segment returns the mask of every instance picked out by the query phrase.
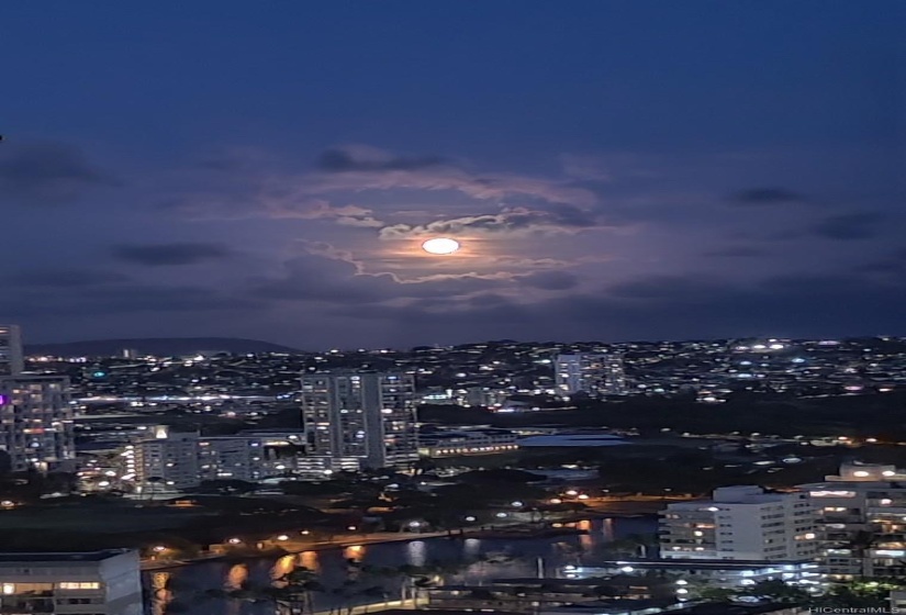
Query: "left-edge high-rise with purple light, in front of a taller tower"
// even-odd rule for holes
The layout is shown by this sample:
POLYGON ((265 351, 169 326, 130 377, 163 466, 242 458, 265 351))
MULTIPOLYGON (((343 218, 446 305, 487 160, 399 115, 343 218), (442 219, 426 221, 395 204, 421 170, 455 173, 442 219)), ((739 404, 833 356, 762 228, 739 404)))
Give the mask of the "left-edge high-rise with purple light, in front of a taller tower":
POLYGON ((0 377, 0 450, 13 471, 66 469, 75 462, 68 378, 0 377))

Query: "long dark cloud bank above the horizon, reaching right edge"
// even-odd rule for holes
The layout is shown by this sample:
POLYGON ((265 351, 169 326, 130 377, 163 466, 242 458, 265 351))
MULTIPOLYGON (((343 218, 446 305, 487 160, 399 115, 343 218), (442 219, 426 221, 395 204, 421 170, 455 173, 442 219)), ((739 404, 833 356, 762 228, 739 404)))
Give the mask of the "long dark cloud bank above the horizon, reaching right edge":
POLYGON ((593 294, 555 295, 530 304, 490 294, 455 304, 415 301, 338 311, 350 321, 381 320, 382 329, 414 343, 459 342, 463 329, 473 339, 589 340, 590 332, 613 342, 832 337, 901 331, 904 291, 903 280, 874 283, 858 276, 769 277, 756 284, 703 281, 698 275, 642 276, 593 294), (853 322, 862 328, 853 329, 853 322))

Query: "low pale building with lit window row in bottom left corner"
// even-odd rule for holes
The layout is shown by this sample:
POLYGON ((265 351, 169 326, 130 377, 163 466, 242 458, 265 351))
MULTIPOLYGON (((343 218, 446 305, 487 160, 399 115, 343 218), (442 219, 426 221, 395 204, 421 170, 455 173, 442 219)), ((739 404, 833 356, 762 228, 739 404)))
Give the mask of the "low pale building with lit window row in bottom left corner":
POLYGON ((142 615, 138 554, 0 554, 0 613, 142 615))

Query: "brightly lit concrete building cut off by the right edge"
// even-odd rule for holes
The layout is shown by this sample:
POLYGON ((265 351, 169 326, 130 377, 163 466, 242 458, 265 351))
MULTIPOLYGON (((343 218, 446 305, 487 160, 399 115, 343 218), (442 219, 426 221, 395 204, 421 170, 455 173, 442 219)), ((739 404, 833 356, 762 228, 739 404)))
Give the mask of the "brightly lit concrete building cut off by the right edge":
POLYGON ((838 476, 799 489, 817 512, 828 580, 906 578, 906 473, 893 466, 847 463, 838 476))

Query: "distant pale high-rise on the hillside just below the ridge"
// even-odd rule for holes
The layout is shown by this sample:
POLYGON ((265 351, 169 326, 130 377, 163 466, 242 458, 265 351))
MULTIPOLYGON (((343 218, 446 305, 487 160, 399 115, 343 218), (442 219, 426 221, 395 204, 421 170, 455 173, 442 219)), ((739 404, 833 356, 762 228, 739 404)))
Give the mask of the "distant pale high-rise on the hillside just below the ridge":
POLYGON ((615 353, 557 355, 555 380, 557 391, 563 396, 577 393, 591 396, 627 393, 623 357, 615 353))

